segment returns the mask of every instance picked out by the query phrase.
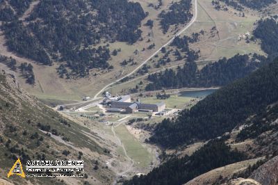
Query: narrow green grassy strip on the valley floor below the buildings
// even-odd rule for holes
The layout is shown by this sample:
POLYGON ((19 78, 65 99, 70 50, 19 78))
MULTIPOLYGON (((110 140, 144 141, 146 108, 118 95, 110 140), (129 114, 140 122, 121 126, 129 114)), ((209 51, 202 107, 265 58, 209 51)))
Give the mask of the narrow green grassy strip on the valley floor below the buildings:
POLYGON ((122 140, 122 144, 126 148, 128 156, 133 159, 136 166, 148 167, 152 162, 152 154, 147 151, 147 148, 143 147, 141 143, 134 138, 124 125, 115 127, 117 136, 122 140))

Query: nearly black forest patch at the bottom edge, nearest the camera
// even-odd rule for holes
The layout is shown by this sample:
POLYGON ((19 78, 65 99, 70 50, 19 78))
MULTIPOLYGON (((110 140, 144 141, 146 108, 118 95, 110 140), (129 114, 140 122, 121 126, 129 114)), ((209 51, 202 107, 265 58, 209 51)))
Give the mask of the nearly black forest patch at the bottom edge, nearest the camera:
POLYGON ((192 156, 185 156, 181 159, 174 158, 154 168, 148 175, 133 177, 124 182, 124 185, 134 184, 185 184, 194 177, 245 159, 245 156, 238 151, 231 149, 224 144, 224 141, 212 140, 197 150, 192 156))

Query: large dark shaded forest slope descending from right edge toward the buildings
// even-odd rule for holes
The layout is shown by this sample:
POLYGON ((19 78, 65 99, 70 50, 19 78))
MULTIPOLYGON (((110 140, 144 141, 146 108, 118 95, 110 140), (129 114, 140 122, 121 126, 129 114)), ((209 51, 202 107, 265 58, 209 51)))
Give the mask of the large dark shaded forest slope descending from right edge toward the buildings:
POLYGON ((177 120, 163 120, 150 140, 176 147, 222 136, 277 101, 278 60, 208 95, 190 111, 182 111, 177 120))

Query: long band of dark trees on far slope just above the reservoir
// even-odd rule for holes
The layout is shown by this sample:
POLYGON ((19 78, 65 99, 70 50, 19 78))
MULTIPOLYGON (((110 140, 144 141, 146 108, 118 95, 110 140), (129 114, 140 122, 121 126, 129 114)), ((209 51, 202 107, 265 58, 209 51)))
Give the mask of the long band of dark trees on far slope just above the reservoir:
POLYGON ((236 55, 232 58, 222 58, 215 63, 209 63, 202 70, 197 70, 194 61, 188 61, 177 70, 150 74, 151 81, 146 90, 159 90, 162 88, 198 88, 224 86, 236 79, 245 77, 261 65, 266 63, 264 56, 236 55))

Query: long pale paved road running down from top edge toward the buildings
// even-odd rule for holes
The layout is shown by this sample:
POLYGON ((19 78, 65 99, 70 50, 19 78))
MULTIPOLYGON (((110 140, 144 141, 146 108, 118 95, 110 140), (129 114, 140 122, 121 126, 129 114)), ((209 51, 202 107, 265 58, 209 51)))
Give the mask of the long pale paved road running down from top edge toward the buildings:
POLYGON ((145 63, 147 63, 150 59, 152 59, 156 54, 158 54, 161 49, 163 47, 166 47, 167 45, 170 45, 170 43, 174 40, 174 38, 176 38, 177 36, 181 35, 184 31, 186 31, 190 26, 193 25, 193 23, 196 21, 197 19, 197 13, 198 13, 198 9, 197 9, 197 0, 195 0, 195 13, 193 15, 193 19, 191 19, 191 21, 189 22, 189 24, 182 29, 181 31, 179 31, 179 33, 177 33, 177 35, 174 35, 174 37, 172 39, 170 39, 165 45, 163 45, 162 47, 160 47, 157 51, 154 52, 154 54, 152 54, 152 56, 149 56, 149 58, 147 58, 146 61, 144 61, 143 63, 141 63, 138 67, 136 67, 136 69, 134 69, 132 72, 130 72, 129 74, 126 74, 126 76, 117 79, 116 81, 113 81, 112 83, 109 83, 107 86, 105 86, 104 88, 102 88, 101 90, 99 90, 99 92, 95 95, 94 98, 97 98, 104 90, 106 90, 106 88, 108 88, 109 86, 112 86, 114 83, 117 83, 118 81, 121 81, 122 79, 131 76, 131 74, 135 73, 136 71, 138 71, 140 69, 140 67, 142 67, 145 63))

